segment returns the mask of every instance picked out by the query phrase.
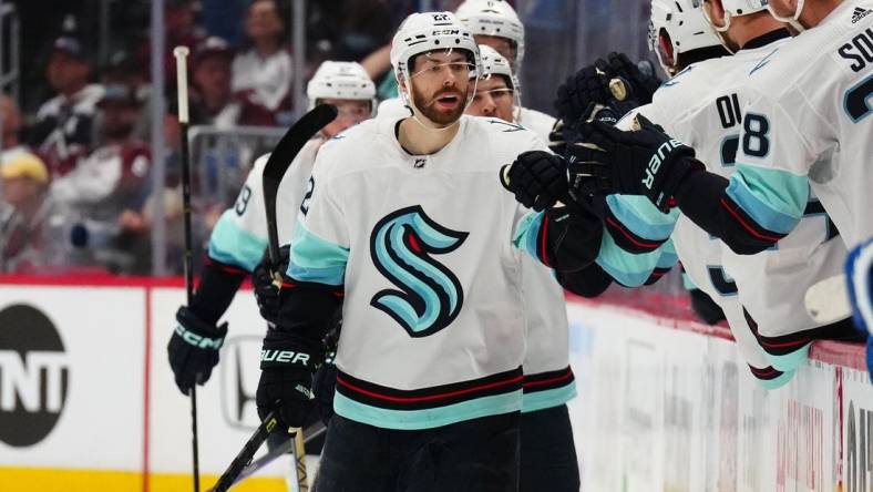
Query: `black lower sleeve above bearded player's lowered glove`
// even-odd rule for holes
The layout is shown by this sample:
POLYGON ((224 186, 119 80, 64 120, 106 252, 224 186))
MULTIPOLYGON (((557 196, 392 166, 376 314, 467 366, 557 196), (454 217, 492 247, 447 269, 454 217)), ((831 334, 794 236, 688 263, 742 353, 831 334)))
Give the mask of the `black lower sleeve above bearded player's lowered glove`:
POLYGON ((320 344, 342 306, 342 294, 310 283, 286 284, 283 290, 276 330, 320 344))

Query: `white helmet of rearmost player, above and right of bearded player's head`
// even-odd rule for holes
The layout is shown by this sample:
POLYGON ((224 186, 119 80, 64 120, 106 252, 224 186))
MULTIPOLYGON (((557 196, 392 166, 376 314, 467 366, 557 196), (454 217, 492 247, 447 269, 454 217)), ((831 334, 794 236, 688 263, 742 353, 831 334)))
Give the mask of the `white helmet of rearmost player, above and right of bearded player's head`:
POLYGON ((466 0, 458 7, 455 16, 473 35, 506 38, 515 44, 515 60, 510 62, 517 70, 524 59, 524 24, 509 2, 466 0))

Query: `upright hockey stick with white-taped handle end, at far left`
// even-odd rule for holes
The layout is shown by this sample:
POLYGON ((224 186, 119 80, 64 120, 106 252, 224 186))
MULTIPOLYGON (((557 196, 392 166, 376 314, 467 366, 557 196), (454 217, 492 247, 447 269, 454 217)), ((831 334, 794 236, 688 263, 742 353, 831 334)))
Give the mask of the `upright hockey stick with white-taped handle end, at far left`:
MULTIPOLYGON (((176 58, 176 85, 178 91, 178 125, 182 132, 182 217, 185 224, 185 254, 182 265, 185 273, 185 303, 191 305, 194 293, 194 271, 192 270, 191 233, 191 163, 188 156, 188 73, 187 47, 173 50, 176 58)), ((194 492, 201 490, 199 445, 197 443, 197 385, 191 387, 191 448, 193 453, 194 492)))

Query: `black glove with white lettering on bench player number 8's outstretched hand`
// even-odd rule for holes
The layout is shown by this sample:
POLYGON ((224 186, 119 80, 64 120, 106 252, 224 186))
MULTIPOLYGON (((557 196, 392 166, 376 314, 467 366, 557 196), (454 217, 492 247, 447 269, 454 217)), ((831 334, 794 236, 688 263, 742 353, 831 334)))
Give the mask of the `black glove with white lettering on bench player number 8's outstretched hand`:
POLYGON ((638 131, 623 132, 600 122, 583 125, 583 143, 567 146, 571 193, 645 195, 667 213, 672 194, 689 173, 703 170, 694 148, 638 115, 638 131))

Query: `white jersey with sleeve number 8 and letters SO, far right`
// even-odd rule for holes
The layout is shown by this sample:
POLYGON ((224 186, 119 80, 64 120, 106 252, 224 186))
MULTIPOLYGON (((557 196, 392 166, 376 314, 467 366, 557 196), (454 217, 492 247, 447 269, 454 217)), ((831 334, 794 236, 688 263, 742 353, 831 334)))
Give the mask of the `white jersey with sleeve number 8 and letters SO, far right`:
POLYGON ((731 191, 761 226, 803 216, 808 186, 851 247, 873 235, 873 1, 846 0, 748 74, 731 191))

